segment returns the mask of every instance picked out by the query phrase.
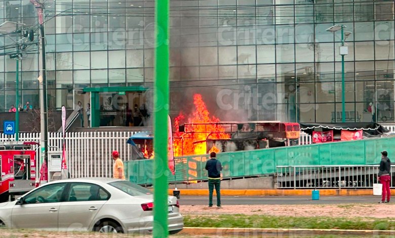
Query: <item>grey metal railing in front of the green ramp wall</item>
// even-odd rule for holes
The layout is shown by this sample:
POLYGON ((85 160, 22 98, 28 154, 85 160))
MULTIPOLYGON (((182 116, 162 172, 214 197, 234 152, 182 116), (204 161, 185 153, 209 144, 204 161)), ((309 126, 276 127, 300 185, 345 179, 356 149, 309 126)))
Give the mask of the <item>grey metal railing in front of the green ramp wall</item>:
MULTIPOLYGON (((379 165, 277 166, 278 188, 372 188, 379 165)), ((391 165, 395 171, 395 165, 391 165)), ((391 178, 395 174, 391 172, 391 178)), ((393 179, 390 186, 393 187, 393 179)))

